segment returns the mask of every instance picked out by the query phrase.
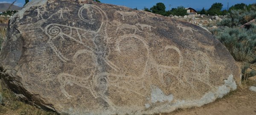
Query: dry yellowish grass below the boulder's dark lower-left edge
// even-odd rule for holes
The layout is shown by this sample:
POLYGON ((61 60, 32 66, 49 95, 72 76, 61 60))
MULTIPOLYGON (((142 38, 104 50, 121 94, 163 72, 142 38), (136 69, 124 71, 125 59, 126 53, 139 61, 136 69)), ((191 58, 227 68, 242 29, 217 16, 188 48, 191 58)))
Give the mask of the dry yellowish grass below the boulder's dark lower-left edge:
POLYGON ((3 96, 4 104, 0 105, 0 115, 57 115, 55 112, 47 112, 20 101, 3 82, 1 85, 0 94, 3 96))

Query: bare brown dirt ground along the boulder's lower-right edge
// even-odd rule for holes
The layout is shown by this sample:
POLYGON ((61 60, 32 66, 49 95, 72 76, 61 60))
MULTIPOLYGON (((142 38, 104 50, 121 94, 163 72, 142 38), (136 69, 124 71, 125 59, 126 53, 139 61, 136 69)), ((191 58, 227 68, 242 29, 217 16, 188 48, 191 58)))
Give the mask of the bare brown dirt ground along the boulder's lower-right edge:
POLYGON ((207 105, 160 115, 256 115, 256 92, 250 91, 249 86, 256 86, 256 81, 247 80, 246 86, 207 105))

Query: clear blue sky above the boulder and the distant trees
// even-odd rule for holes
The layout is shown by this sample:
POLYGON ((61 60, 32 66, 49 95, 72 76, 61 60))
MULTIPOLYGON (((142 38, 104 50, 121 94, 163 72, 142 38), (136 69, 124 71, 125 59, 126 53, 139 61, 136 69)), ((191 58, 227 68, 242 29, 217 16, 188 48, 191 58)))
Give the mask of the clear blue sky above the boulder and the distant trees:
MULTIPOLYGON (((0 0, 0 3, 12 3, 14 0, 0 0)), ((166 5, 166 10, 169 10, 169 5, 171 4, 171 9, 177 6, 192 7, 194 9, 209 9, 213 3, 222 3, 223 9, 227 9, 227 3, 229 7, 237 3, 251 4, 256 3, 256 0, 100 0, 102 3, 110 3, 120 6, 127 6, 132 9, 143 9, 144 7, 151 8, 156 3, 164 3, 166 5)), ((25 0, 17 0, 15 5, 23 6, 25 0)))

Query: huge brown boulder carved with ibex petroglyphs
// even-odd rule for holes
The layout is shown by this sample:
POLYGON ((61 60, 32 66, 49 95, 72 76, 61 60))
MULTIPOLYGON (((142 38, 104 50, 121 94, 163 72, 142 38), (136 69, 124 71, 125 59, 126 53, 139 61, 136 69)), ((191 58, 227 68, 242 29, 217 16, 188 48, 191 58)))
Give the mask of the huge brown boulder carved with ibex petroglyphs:
POLYGON ((32 0, 7 36, 2 78, 61 114, 172 112, 222 98, 241 79, 225 46, 199 26, 92 0, 32 0))

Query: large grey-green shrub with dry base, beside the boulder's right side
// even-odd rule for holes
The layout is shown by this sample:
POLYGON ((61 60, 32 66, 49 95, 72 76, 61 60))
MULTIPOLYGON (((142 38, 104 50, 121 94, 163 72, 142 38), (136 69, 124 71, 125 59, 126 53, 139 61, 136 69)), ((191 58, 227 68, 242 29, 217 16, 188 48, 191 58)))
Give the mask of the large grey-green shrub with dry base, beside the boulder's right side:
POLYGON ((253 62, 256 57, 256 26, 250 29, 225 28, 210 30, 227 47, 236 61, 253 62))

